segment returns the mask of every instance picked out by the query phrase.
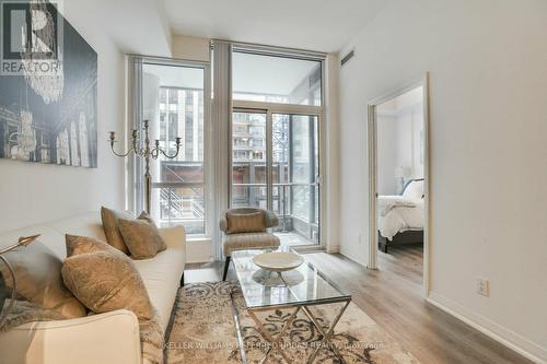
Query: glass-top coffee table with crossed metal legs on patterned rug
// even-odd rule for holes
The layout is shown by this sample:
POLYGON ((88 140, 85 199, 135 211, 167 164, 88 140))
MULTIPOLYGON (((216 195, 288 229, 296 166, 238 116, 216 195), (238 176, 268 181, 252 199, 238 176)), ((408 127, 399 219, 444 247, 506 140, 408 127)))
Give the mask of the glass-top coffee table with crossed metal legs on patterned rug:
MULTIPOLYGON (((280 251, 289 251, 288 249, 289 248, 283 247, 280 248, 280 251)), ((315 326, 322 337, 319 343, 314 345, 314 350, 307 357, 306 363, 313 363, 318 351, 326 345, 328 345, 334 354, 338 356, 340 362, 344 363, 344 359, 336 347, 330 344, 330 339, 334 334, 336 325, 351 302, 351 295, 328 280, 307 261, 304 261, 304 263, 296 269, 282 272, 281 275, 264 271, 253 262, 253 257, 266 251, 272 250, 240 250, 232 253, 232 261, 245 301, 246 312, 255 322, 258 332, 260 332, 261 337, 268 343, 268 350, 260 363, 266 362, 268 356, 276 351, 279 352, 287 363, 291 363, 282 350, 282 345, 279 343, 283 333, 290 328, 300 312, 303 312, 310 318, 311 324, 315 326), (338 310, 330 325, 325 328, 321 325, 321 320, 312 313, 310 307, 335 303, 341 303, 341 308, 338 310), (267 310, 275 312, 277 309, 289 309, 292 310, 292 313, 288 319, 284 320, 277 337, 274 337, 257 314, 267 310)), ((246 363, 245 345, 241 327, 241 313, 235 304, 234 292, 231 293, 231 298, 241 356, 243 363, 246 363)))

